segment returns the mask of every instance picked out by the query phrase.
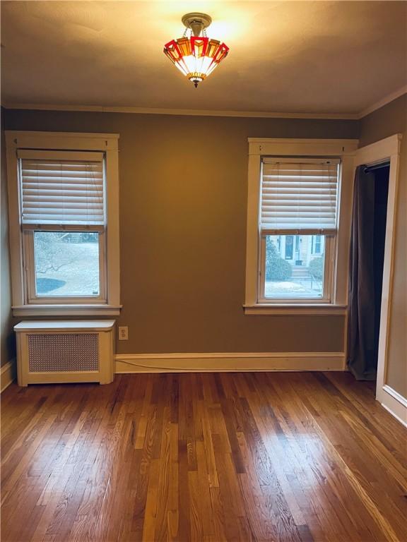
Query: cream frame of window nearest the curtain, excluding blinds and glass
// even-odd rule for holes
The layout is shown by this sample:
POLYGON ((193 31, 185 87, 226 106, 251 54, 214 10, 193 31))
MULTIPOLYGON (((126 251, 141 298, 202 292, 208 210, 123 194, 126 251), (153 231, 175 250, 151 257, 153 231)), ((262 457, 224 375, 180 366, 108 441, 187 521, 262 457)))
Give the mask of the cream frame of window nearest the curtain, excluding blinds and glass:
POLYGON ((246 292, 249 315, 344 315, 348 305, 348 251, 353 195, 353 159, 357 139, 249 138, 247 193, 246 292), (324 294, 322 299, 266 299, 264 296, 264 236, 259 231, 261 159, 264 156, 341 160, 338 191, 338 230, 325 236, 324 294), (263 275, 261 275, 263 273, 263 275))

